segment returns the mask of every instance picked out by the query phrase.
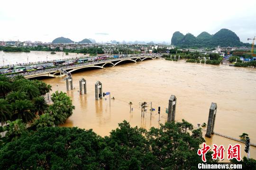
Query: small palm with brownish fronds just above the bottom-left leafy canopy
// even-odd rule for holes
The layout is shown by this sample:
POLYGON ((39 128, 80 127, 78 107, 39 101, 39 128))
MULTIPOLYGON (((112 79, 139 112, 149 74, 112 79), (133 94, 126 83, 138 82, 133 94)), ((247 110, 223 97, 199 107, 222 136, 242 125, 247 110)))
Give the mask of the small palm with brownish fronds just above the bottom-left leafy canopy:
POLYGON ((5 137, 9 139, 9 141, 14 141, 25 131, 26 125, 22 122, 21 119, 17 119, 14 121, 7 121, 7 124, 4 127, 4 131, 6 131, 5 137))

